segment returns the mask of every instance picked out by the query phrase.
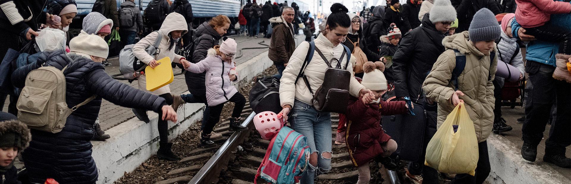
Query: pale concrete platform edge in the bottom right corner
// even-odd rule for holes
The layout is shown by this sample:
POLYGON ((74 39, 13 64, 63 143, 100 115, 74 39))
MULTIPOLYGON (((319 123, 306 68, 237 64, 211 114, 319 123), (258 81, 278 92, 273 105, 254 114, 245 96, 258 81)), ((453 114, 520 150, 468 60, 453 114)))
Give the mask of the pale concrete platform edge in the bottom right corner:
POLYGON ((488 137, 488 154, 491 170, 486 181, 492 184, 504 183, 571 183, 550 167, 537 165, 521 158, 520 147, 501 135, 488 137))

